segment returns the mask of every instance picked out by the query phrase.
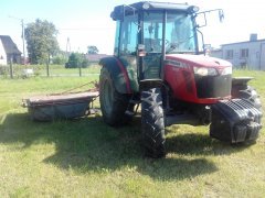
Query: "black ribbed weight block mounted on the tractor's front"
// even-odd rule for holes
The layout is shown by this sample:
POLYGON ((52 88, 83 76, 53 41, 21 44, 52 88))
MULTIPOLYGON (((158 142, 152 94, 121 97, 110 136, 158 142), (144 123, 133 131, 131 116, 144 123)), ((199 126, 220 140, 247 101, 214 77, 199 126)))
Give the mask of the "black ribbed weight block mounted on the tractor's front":
POLYGON ((221 141, 254 141, 262 129, 262 112, 246 99, 221 100, 212 106, 210 135, 221 141))

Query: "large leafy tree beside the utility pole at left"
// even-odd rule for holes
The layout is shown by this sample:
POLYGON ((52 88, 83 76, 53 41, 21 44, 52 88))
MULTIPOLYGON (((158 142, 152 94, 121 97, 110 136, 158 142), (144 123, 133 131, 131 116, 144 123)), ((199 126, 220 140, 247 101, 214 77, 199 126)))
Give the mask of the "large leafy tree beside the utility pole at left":
POLYGON ((46 20, 36 19, 24 30, 26 48, 32 64, 45 63, 59 51, 57 30, 46 20))

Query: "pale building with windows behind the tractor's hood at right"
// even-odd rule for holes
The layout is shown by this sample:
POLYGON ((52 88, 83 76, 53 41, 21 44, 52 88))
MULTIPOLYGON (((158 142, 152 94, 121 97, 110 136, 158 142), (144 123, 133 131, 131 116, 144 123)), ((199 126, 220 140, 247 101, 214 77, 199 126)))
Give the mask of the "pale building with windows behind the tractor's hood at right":
POLYGON ((250 41, 221 45, 221 51, 211 52, 211 56, 226 59, 236 68, 265 70, 265 40, 251 34, 250 41))

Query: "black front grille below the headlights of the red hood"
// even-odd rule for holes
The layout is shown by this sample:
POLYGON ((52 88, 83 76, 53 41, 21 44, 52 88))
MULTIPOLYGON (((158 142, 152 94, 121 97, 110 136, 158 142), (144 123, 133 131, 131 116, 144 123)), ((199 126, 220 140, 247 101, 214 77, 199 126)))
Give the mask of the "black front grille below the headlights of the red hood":
POLYGON ((195 75, 198 98, 219 98, 231 95, 231 75, 198 76, 195 75))

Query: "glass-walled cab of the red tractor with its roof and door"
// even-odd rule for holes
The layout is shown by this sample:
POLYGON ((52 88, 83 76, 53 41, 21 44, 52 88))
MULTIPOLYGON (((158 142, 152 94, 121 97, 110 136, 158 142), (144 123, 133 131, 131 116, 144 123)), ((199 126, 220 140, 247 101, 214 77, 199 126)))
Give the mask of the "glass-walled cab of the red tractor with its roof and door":
POLYGON ((161 79, 166 54, 198 54, 198 7, 162 2, 138 2, 116 7, 115 55, 138 80, 161 79))

